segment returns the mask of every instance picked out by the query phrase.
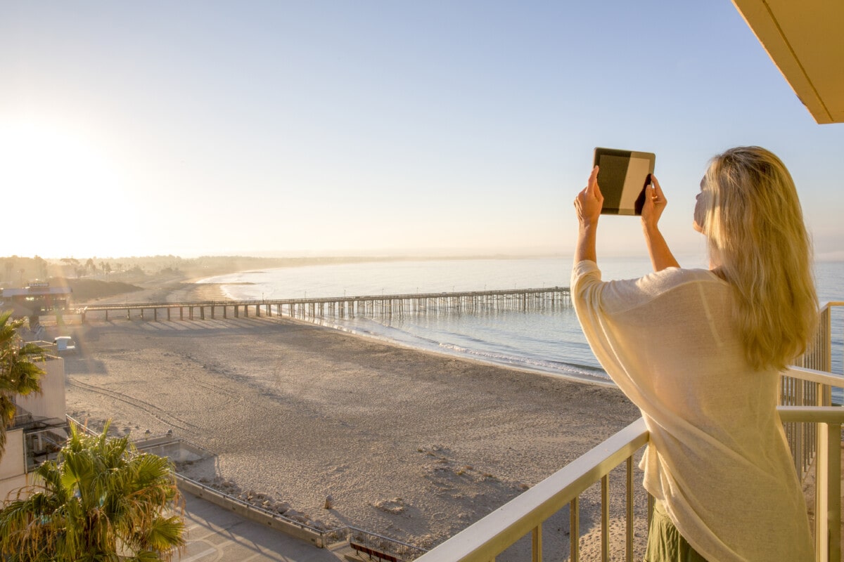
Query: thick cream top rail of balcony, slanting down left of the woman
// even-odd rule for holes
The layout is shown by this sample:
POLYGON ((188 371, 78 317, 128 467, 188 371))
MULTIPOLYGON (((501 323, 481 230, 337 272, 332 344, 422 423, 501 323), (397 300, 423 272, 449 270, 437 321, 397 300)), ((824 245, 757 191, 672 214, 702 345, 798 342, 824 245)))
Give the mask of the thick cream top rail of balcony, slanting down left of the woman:
POLYGON ((560 511, 589 486, 644 447, 647 440, 645 420, 639 418, 530 490, 430 550, 418 561, 469 562, 495 558, 512 543, 530 533, 536 522, 544 521, 560 511))

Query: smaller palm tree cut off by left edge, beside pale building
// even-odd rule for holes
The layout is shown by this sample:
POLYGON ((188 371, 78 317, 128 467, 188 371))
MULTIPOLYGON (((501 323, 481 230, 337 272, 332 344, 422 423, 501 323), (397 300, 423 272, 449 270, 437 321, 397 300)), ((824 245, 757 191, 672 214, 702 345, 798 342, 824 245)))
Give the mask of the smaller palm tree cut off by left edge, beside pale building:
POLYGON ((6 427, 14 420, 14 397, 40 393, 44 374, 35 365, 44 360, 44 350, 35 344, 20 345, 18 329, 26 320, 11 318, 12 311, 0 314, 0 457, 6 448, 6 427))

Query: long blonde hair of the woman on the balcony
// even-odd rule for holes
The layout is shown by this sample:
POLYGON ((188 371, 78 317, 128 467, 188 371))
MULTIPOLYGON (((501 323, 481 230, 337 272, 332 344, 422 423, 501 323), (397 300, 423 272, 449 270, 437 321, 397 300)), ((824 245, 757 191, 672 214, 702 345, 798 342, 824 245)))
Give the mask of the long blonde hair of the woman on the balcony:
POLYGON ((812 243, 791 174, 764 148, 731 148, 712 158, 703 192, 703 233, 733 286, 744 356, 756 369, 782 370, 806 351, 818 317, 812 243))

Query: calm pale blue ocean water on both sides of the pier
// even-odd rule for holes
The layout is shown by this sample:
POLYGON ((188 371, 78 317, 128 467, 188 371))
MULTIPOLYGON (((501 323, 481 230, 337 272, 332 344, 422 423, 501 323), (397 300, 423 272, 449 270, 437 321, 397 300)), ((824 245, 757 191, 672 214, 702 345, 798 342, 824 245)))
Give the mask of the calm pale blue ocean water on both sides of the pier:
MULTIPOLYGON (((701 258, 679 260, 701 267, 701 258)), ((599 260, 603 279, 651 271, 647 258, 599 260)), ((571 259, 407 260, 244 271, 203 280, 235 299, 461 292, 568 286, 571 259)), ((844 300, 844 262, 819 262, 821 302, 844 300)), ((842 370, 844 307, 833 314, 833 372, 842 370)), ((583 337, 573 308, 480 313, 424 312, 326 318, 322 324, 401 345, 509 367, 609 382, 583 337)), ((839 395, 839 401, 841 395, 839 395)))

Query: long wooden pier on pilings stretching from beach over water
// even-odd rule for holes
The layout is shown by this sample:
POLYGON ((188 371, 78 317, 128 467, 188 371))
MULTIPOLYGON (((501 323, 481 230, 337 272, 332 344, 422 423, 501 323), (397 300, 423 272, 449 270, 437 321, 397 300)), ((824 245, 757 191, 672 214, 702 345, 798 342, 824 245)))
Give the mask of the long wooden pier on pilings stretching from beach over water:
POLYGON ((77 312, 99 318, 141 318, 160 320, 205 320, 214 318, 248 318, 286 316, 289 318, 379 316, 419 313, 476 313, 495 310, 533 310, 568 308, 571 296, 568 287, 542 289, 511 289, 473 292, 433 292, 407 295, 368 295, 362 297, 284 298, 246 301, 204 302, 127 302, 125 304, 88 304, 78 306, 77 312))

